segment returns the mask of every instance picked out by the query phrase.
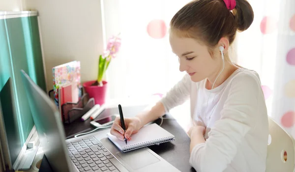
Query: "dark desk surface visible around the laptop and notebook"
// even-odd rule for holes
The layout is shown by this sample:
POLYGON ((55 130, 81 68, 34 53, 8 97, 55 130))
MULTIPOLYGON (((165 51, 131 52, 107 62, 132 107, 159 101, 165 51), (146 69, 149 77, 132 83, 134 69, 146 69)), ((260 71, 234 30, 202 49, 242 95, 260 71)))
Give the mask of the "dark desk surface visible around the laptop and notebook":
MULTIPOLYGON (((137 115, 138 112, 142 111, 145 107, 146 106, 122 107, 122 111, 124 116, 130 117, 137 115)), ((112 114, 118 114, 118 108, 107 109, 102 112, 100 117, 112 114)), ((159 145, 151 145, 148 147, 181 172, 195 172, 195 170, 189 165, 190 138, 171 115, 165 115, 164 117, 169 117, 170 119, 163 119, 161 127, 172 133, 176 137, 175 141, 161 143, 159 145)), ((74 135, 80 131, 87 132, 92 130, 93 128, 90 126, 89 122, 89 119, 85 122, 77 120, 70 125, 65 125, 64 129, 67 139, 74 137, 74 135)), ((157 119, 155 122, 160 124, 161 119, 157 119)), ((48 162, 44 156, 39 172, 51 172, 49 169, 48 162)))

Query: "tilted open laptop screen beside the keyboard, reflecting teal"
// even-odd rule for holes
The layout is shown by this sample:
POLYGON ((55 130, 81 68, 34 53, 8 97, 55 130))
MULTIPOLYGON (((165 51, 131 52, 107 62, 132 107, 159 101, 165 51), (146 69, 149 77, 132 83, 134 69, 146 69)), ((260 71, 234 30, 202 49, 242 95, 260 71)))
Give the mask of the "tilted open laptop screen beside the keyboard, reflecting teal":
POLYGON ((29 107, 39 136, 40 147, 54 172, 69 172, 65 133, 59 111, 48 95, 21 70, 29 107), (53 117, 54 116, 54 117, 53 117), (59 169, 55 169, 58 167, 59 169))

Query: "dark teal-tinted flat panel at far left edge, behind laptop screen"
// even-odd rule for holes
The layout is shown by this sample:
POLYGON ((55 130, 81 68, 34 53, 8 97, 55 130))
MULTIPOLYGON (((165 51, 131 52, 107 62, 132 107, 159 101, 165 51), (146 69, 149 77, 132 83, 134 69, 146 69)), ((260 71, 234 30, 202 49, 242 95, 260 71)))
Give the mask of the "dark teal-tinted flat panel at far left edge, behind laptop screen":
POLYGON ((4 164, 9 170, 16 162, 22 149, 11 78, 0 90, 0 139, 4 164))

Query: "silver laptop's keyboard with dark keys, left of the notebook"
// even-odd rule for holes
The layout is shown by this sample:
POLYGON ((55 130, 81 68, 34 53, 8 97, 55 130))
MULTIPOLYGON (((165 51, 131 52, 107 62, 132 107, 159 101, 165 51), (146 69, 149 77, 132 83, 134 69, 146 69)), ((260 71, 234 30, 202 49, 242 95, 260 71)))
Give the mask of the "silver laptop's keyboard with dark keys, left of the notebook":
POLYGON ((114 156, 94 137, 67 143, 67 148, 80 172, 119 172, 109 161, 114 156))

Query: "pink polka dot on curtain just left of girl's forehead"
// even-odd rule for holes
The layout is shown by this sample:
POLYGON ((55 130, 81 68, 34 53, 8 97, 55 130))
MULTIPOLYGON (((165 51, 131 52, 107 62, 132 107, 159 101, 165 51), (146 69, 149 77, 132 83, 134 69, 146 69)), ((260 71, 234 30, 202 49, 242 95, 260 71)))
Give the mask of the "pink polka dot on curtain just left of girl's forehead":
POLYGON ((167 27, 163 20, 152 20, 148 23, 148 35, 155 39, 163 38, 167 33, 167 27))

